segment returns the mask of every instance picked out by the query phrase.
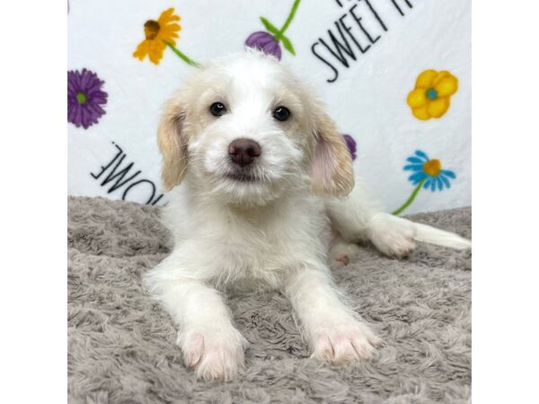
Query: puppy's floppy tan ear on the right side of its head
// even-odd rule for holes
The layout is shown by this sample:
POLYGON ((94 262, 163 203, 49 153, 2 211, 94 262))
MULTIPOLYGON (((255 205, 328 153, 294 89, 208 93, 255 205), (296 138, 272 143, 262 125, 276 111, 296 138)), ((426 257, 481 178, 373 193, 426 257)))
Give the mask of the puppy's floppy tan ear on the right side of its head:
POLYGON ((316 195, 346 197, 354 188, 352 157, 346 141, 325 113, 316 117, 314 132, 311 189, 316 195))

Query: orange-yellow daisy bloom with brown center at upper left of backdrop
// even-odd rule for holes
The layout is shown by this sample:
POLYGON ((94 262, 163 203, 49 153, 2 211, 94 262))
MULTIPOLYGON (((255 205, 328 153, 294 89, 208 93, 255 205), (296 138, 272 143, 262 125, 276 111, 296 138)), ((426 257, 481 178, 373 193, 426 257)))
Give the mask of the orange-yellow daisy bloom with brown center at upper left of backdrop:
POLYGON ((178 21, 180 21, 180 16, 174 15, 173 8, 163 11, 157 21, 146 21, 144 24, 146 40, 140 42, 133 56, 144 60, 147 55, 150 61, 157 65, 163 57, 166 44, 176 45, 174 38, 179 38, 176 32, 181 30, 180 24, 175 23, 178 21))

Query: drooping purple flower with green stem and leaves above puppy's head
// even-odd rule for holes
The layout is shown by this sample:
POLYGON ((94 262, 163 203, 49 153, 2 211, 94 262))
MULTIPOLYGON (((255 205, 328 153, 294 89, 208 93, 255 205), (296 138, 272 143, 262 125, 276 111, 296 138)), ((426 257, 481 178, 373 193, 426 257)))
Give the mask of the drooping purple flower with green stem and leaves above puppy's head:
POLYGON ((281 48, 279 42, 283 43, 283 46, 290 52, 292 55, 296 55, 296 50, 292 42, 288 40, 285 36, 285 32, 292 20, 294 20, 294 15, 296 14, 297 7, 299 6, 300 0, 295 0, 288 13, 287 21, 283 24, 282 28, 279 30, 275 25, 273 25, 267 18, 261 17, 261 22, 266 27, 266 31, 256 31, 253 32, 247 40, 245 40, 245 46, 250 48, 260 49, 262 52, 273 55, 280 60, 282 56, 281 48))

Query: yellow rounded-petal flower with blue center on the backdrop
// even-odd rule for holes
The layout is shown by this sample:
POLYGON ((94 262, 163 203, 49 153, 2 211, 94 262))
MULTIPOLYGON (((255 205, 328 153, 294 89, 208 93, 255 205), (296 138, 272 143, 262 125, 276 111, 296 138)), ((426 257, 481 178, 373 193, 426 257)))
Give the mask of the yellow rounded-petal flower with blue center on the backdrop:
POLYGON ((458 80, 447 71, 425 70, 406 102, 417 119, 440 118, 449 109, 451 96, 458 90, 458 80))

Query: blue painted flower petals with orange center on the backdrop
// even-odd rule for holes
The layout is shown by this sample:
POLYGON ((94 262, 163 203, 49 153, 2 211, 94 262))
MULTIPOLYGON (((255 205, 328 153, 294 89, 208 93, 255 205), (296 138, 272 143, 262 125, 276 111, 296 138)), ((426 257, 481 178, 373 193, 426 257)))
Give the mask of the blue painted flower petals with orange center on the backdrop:
POLYGON ((429 159, 429 156, 420 150, 415 155, 406 159, 410 164, 404 166, 405 171, 413 171, 408 180, 413 185, 422 184, 423 189, 442 190, 444 187, 451 188, 449 179, 455 180, 455 172, 442 170, 442 163, 437 159, 429 159))

